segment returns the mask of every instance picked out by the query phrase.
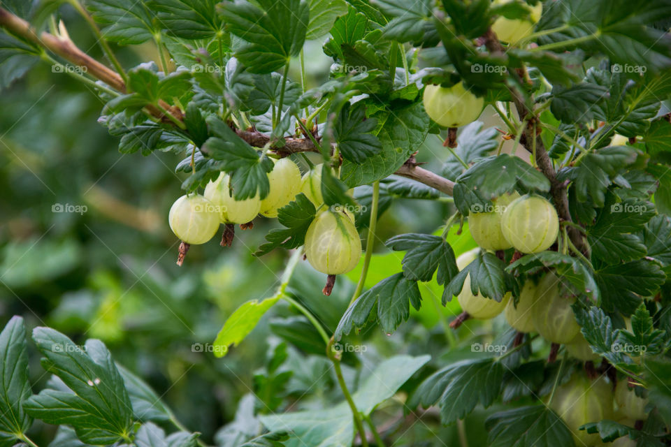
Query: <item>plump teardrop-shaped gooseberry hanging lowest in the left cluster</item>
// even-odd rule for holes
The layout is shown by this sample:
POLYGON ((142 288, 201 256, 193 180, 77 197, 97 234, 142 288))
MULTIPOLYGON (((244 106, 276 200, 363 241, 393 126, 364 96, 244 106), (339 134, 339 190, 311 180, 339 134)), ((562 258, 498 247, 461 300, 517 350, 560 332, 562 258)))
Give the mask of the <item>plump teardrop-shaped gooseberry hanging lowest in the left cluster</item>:
POLYGON ((361 239, 352 220, 331 210, 317 214, 305 233, 305 256, 322 273, 353 270, 361 258, 361 239))

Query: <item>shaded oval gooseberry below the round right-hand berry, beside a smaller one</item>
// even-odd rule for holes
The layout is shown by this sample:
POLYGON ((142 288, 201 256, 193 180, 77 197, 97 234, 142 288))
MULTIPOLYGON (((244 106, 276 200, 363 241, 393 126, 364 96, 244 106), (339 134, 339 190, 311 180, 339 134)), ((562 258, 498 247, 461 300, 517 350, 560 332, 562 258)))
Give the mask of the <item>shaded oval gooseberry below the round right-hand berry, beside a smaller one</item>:
POLYGON ((533 327, 548 342, 572 342, 580 332, 571 305, 576 298, 565 296, 561 279, 549 272, 538 282, 535 303, 531 308, 533 327))

